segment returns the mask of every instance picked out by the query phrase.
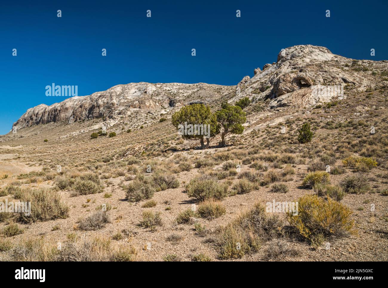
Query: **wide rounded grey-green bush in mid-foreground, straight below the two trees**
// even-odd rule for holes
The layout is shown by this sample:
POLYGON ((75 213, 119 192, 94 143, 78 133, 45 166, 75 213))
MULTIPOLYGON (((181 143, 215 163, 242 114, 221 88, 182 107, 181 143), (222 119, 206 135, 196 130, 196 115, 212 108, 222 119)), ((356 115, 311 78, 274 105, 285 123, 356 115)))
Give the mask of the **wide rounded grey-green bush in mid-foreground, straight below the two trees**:
POLYGON ((216 178, 208 175, 191 179, 186 185, 187 196, 198 200, 210 198, 222 200, 228 196, 228 188, 227 183, 218 183, 216 178))

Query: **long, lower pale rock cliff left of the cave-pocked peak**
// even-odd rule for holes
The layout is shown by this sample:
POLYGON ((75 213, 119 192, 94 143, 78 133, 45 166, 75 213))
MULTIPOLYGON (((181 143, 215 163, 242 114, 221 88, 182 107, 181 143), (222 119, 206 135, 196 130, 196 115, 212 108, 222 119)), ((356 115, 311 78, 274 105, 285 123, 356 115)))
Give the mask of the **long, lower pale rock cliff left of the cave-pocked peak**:
POLYGON ((136 114, 166 113, 189 100, 220 98, 234 91, 235 86, 206 83, 129 83, 88 96, 76 96, 47 106, 30 108, 16 121, 12 129, 36 124, 64 122, 70 124, 87 119, 104 118, 112 121, 136 114))

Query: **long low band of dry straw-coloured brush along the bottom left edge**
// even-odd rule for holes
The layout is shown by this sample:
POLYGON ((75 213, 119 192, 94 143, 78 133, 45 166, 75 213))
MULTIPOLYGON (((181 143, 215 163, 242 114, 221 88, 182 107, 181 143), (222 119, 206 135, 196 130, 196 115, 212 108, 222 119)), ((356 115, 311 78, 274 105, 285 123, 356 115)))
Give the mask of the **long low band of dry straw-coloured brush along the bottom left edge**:
POLYGON ((57 243, 43 237, 23 238, 9 250, 11 261, 135 261, 138 251, 132 245, 113 245, 102 237, 74 238, 64 243, 61 250, 57 243))

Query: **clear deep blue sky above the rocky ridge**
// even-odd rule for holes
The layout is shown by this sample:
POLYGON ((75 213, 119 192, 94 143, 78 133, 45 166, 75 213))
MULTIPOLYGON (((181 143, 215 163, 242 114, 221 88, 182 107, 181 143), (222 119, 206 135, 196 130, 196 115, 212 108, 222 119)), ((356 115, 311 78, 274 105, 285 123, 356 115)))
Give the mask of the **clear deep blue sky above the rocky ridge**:
POLYGON ((28 108, 63 101, 45 96, 53 82, 80 96, 141 81, 236 85, 300 44, 388 59, 387 1, 160 2, 2 1, 0 134, 28 108))

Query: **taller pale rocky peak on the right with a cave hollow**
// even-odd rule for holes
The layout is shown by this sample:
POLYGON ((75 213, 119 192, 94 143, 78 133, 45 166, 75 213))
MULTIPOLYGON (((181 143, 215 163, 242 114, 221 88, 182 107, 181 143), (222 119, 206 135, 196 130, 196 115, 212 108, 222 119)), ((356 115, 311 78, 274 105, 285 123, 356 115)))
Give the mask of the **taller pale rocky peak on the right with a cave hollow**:
POLYGON ((380 83, 372 70, 387 67, 387 61, 353 60, 335 55, 326 47, 297 45, 282 49, 276 62, 256 68, 252 78, 242 78, 236 87, 236 97, 230 102, 243 97, 269 98, 272 100, 269 106, 274 108, 341 100, 345 95, 343 90, 360 92, 376 88, 380 83), (326 93, 325 86, 340 89, 326 93))

